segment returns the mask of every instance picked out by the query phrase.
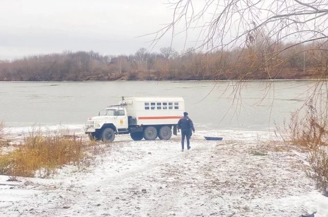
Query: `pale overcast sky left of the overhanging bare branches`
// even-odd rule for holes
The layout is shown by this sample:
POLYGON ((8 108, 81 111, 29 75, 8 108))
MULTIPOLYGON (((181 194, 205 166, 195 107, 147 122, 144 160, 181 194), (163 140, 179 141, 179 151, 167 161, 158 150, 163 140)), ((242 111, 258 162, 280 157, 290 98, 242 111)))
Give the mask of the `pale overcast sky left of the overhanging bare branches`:
MULTIPOLYGON (((0 0, 0 59, 71 51, 132 54, 149 49, 153 37, 172 20, 165 0, 0 0)), ((189 35, 188 46, 196 39, 189 35)), ((153 51, 170 45, 168 34, 153 51)), ((183 49, 185 35, 175 37, 174 48, 183 49)))

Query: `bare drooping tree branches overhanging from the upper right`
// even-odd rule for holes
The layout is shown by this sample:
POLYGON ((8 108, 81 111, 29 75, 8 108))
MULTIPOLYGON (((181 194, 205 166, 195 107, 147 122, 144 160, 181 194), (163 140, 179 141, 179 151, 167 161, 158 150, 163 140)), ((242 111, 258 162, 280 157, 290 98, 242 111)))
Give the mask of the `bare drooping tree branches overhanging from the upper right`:
MULTIPOLYGON (((151 33, 154 35, 153 46, 163 35, 170 34, 174 40, 175 35, 181 32, 187 37, 191 30, 199 30, 195 49, 220 54, 215 75, 228 75, 227 71, 234 71, 227 79, 275 79, 283 73, 291 58, 302 54, 305 60, 304 52, 312 52, 320 63, 315 68, 320 72, 318 78, 326 78, 326 0, 177 0, 168 4, 173 8, 173 19, 159 31, 151 33), (293 43, 286 45, 290 42, 293 43), (297 52, 292 51, 295 47, 297 52), (227 57, 228 51, 234 55, 227 57), (272 75, 275 70, 278 73, 272 75)), ((302 66, 305 66, 304 61, 302 66)), ((239 82, 233 86, 232 97, 235 100, 239 99, 238 93, 245 85, 239 82)), ((271 87, 273 83, 268 82, 268 85, 271 87)), ((325 81, 318 82, 318 86, 324 85, 325 81)))

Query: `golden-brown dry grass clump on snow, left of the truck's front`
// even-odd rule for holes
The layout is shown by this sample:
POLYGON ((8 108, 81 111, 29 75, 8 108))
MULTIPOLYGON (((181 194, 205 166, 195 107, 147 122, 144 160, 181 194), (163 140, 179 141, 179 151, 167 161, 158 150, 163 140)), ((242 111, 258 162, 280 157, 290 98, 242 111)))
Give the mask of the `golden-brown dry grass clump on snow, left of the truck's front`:
POLYGON ((34 177, 39 172, 45 177, 66 164, 89 166, 92 155, 104 153, 106 147, 109 145, 85 141, 67 130, 42 133, 33 127, 17 149, 0 154, 0 175, 34 177))

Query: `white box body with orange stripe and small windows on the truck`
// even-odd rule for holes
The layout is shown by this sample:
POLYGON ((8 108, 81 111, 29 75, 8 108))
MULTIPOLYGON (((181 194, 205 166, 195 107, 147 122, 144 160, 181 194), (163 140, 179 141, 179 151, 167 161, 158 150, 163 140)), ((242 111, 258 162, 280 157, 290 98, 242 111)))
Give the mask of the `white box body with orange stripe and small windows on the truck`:
POLYGON ((137 125, 174 125, 185 111, 181 97, 131 97, 120 102, 137 125))

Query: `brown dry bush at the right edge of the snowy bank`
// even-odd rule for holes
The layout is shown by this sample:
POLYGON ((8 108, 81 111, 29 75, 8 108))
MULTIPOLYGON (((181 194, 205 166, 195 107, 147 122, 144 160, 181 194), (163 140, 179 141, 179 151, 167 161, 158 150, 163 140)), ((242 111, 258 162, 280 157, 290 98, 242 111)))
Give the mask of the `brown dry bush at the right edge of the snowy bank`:
POLYGON ((306 175, 328 197, 328 115, 317 112, 312 102, 307 105, 304 117, 297 114, 292 115, 288 127, 276 127, 275 133, 287 148, 295 147, 309 164, 303 167, 306 175))

